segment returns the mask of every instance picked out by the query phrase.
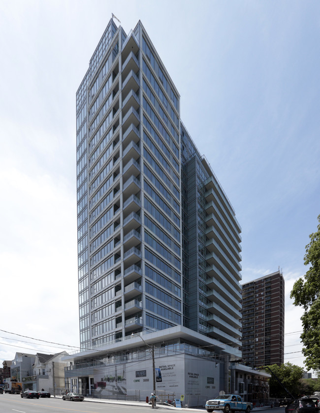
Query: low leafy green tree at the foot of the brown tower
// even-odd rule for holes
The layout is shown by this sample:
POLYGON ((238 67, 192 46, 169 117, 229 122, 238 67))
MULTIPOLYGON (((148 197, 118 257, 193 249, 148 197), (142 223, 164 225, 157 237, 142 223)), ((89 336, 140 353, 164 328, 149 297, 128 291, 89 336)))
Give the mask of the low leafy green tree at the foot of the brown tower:
MULTIPOLYGON (((298 397, 301 394, 302 384, 300 379, 302 379, 303 376, 302 367, 291 363, 281 364, 280 366, 278 366, 278 364, 272 364, 267 367, 277 376, 292 396, 298 397)), ((270 370, 266 369, 266 372, 270 373, 270 370)), ((279 384, 274 375, 271 375, 269 380, 269 394, 270 397, 289 397, 286 390, 279 384)))

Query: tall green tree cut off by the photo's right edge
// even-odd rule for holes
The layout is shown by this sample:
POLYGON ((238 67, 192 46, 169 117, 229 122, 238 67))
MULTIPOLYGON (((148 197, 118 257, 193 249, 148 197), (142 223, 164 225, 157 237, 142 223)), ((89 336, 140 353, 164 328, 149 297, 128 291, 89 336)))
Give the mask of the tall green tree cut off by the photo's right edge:
POLYGON ((310 267, 304 279, 294 283, 290 294, 293 304, 304 309, 300 338, 308 370, 320 370, 320 215, 318 221, 318 231, 309 235, 310 243, 304 256, 304 264, 310 267))

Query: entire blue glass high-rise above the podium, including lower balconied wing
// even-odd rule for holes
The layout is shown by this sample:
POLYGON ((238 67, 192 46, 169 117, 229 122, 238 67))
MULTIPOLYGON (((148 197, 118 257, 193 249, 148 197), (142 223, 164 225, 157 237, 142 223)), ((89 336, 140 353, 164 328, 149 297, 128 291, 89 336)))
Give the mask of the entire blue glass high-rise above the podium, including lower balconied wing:
POLYGON ((184 325, 239 347, 240 232, 141 22, 110 20, 77 91, 80 344, 184 325))

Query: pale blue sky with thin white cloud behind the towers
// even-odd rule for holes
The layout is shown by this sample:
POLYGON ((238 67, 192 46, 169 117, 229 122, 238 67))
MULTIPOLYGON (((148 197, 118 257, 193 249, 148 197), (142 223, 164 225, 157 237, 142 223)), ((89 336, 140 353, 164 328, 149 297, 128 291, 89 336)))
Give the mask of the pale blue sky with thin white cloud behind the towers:
MULTIPOLYGON (((283 269, 285 361, 303 366, 289 292, 320 214, 316 0, 0 1, 0 328, 79 345, 75 93, 111 13, 142 21, 181 95, 242 226, 243 281, 283 269)), ((59 351, 0 333, 0 361, 59 351)))

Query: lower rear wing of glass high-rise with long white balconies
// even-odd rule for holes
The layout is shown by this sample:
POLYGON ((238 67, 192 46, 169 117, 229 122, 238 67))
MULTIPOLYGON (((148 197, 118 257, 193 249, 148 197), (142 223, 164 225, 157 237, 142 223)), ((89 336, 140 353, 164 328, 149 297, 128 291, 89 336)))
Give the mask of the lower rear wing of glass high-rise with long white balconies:
POLYGON ((239 348, 241 228, 182 123, 181 162, 185 326, 239 348))

